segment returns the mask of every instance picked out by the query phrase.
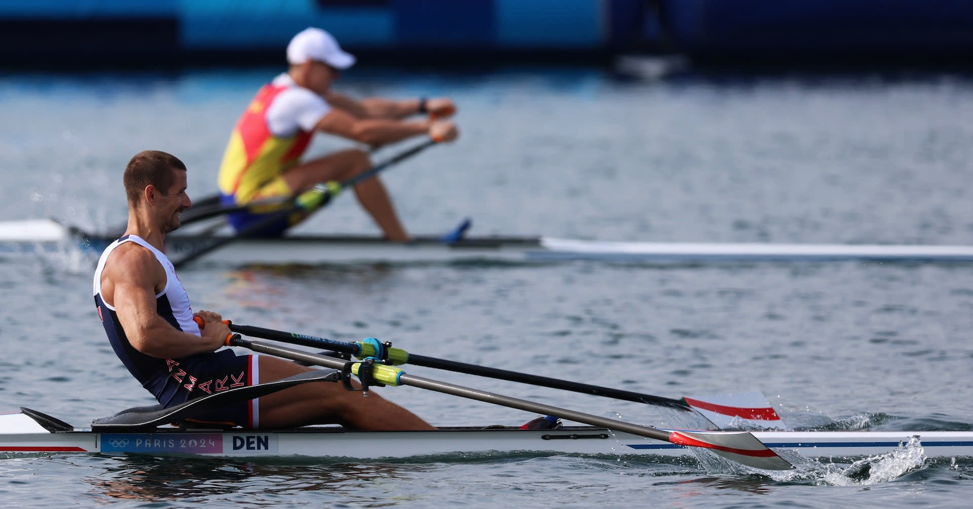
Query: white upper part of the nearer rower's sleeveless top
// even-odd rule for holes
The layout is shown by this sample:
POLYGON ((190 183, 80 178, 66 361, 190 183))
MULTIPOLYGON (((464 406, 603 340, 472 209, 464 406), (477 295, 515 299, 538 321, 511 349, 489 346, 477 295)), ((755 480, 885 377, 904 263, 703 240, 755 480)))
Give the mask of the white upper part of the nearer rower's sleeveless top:
MULTIPOLYGON (((101 253, 101 258, 98 260, 98 268, 94 271, 94 297, 97 301, 100 301, 105 308, 109 309, 114 317, 115 307, 109 306, 101 298, 101 273, 105 269, 105 262, 108 260, 108 256, 116 247, 125 242, 135 242, 152 251, 152 254, 156 255, 156 260, 159 260, 159 263, 162 264, 162 269, 165 270, 165 287, 162 288, 162 292, 156 295, 160 316, 172 324, 173 327, 183 332, 199 336, 199 327, 193 321, 193 309, 189 305, 189 296, 186 294, 186 289, 183 287, 182 281, 176 275, 175 267, 172 267, 172 262, 165 256, 165 253, 153 247, 152 244, 140 236, 123 236, 109 244, 105 248, 105 251, 101 253)), ((100 309, 99 312, 101 312, 100 309)), ((104 318, 102 317, 102 321, 104 321, 104 318)))

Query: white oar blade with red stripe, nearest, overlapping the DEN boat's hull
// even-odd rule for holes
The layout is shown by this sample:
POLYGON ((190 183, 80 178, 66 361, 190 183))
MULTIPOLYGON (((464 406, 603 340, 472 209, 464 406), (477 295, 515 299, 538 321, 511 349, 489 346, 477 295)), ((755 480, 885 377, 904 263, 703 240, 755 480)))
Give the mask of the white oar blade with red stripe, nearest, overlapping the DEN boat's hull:
POLYGON ((745 431, 672 431, 669 442, 678 446, 702 447, 740 464, 764 470, 790 470, 794 465, 771 451, 757 437, 745 431))

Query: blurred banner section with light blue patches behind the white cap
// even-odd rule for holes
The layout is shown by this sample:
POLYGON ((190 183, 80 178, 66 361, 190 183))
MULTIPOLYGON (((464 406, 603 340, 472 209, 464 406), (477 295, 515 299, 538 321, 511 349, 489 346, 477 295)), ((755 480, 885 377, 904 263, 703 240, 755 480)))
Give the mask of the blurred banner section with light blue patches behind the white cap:
POLYGON ((641 9, 636 0, 8 0, 0 58, 279 61, 295 33, 319 26, 351 51, 396 58, 581 51, 590 59, 636 39, 641 9))

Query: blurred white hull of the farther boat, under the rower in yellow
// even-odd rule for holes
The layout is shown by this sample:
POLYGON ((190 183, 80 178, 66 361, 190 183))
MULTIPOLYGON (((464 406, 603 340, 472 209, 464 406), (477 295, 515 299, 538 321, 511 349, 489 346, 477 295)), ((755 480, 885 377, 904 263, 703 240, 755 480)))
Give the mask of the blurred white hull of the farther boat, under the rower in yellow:
MULTIPOLYGON (((227 234, 166 236, 173 259, 192 255, 227 234)), ((0 255, 101 250, 114 236, 84 232, 53 220, 0 222, 0 255)), ((603 260, 644 263, 720 261, 973 261, 973 245, 800 244, 762 242, 640 242, 569 239, 552 236, 416 236, 409 243, 378 236, 306 236, 241 238, 208 254, 203 261, 221 264, 442 263, 456 261, 552 262, 603 260)))

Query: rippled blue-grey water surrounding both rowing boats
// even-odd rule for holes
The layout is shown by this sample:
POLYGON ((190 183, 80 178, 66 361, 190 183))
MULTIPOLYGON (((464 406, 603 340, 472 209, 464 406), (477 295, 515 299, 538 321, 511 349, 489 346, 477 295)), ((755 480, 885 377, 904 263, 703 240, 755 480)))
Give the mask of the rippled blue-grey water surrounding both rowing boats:
MULTIPOLYGON (((0 76, 0 220, 124 221, 144 149, 214 191, 236 116, 277 69, 0 76)), ((614 240, 973 243, 973 79, 948 73, 620 77, 603 69, 346 73, 355 95, 446 94, 461 139, 384 179, 414 233, 614 240)), ((311 153, 346 146, 319 136, 311 153)), ((386 149, 386 154, 396 149, 386 149)), ((301 230, 377 233, 349 197, 301 230)), ((71 253, 67 253, 71 255, 71 253)), ((87 425, 152 403, 115 357, 90 260, 0 259, 0 412, 87 425)), ((181 279, 237 323, 668 397, 764 391, 833 429, 971 429, 973 265, 564 263, 237 268, 181 279)), ((414 373, 648 424, 629 402, 414 373)), ((533 415, 380 389, 437 425, 533 415)), ((876 458, 752 473, 719 462, 477 456, 401 461, 52 455, 0 459, 25 506, 964 507, 973 462, 876 458)))

